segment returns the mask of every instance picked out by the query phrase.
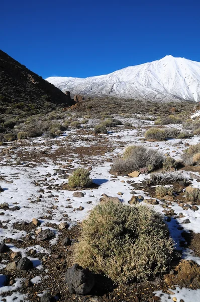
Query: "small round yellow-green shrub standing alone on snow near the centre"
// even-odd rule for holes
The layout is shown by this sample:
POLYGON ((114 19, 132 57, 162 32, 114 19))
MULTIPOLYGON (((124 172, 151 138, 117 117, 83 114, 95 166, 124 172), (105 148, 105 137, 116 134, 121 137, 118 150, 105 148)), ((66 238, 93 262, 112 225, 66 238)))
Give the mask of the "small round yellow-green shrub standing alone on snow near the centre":
POLYGON ((68 185, 70 188, 86 187, 92 183, 89 178, 89 171, 83 168, 76 169, 73 174, 68 178, 68 185))

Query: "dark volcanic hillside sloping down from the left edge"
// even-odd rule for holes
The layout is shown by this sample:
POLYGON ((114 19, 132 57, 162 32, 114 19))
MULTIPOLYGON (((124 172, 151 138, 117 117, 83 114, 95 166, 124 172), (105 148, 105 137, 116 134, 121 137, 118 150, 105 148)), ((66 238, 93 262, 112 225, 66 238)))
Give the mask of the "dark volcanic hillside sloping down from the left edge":
POLYGON ((70 105, 68 97, 0 50, 0 112, 31 115, 70 105))

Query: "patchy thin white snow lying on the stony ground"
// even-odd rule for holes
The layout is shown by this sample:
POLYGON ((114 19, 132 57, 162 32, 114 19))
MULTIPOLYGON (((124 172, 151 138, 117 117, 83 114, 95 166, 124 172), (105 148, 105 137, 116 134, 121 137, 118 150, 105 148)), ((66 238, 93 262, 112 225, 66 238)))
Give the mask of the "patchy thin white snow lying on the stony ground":
MULTIPOLYGON (((119 118, 123 120, 123 118, 119 118)), ((148 198, 145 195, 145 192, 142 190, 135 190, 130 184, 128 184, 126 181, 128 180, 127 177, 118 176, 117 179, 111 178, 111 174, 109 173, 109 170, 111 169, 110 165, 111 162, 107 162, 108 158, 114 159, 115 156, 120 155, 123 153, 123 150, 126 146, 131 144, 137 144, 137 145, 144 145, 151 148, 156 148, 160 151, 162 151, 164 154, 167 153, 170 156, 172 156, 174 159, 180 158, 180 155, 182 151, 186 148, 184 143, 178 144, 180 139, 169 139, 167 141, 159 141, 159 142, 143 142, 142 137, 144 137, 144 127, 148 125, 152 125, 152 121, 139 121, 137 119, 125 119, 126 121, 132 122, 135 126, 137 126, 137 129, 128 129, 125 130, 123 128, 120 128, 121 130, 118 132, 113 132, 109 135, 105 134, 105 137, 107 137, 110 141, 110 143, 116 148, 114 149, 114 152, 106 153, 104 156, 91 156, 90 159, 96 161, 96 165, 92 165, 91 170, 91 178, 93 179, 93 182, 100 185, 98 189, 87 189, 83 190, 84 197, 77 198, 73 197, 74 191, 66 191, 66 190, 51 190, 52 194, 56 197, 48 197, 49 193, 44 192, 42 193, 43 197, 40 201, 37 201, 37 197, 39 197, 40 193, 38 193, 38 189, 40 187, 35 186, 34 182, 41 183, 41 187, 44 187, 45 182, 51 184, 52 186, 54 184, 62 184, 66 182, 64 179, 56 179, 51 180, 53 178, 52 174, 55 172, 56 169, 58 169, 60 166, 58 163, 54 163, 53 161, 49 160, 48 162, 44 163, 37 163, 36 166, 32 166, 32 168, 27 167, 27 163, 24 162, 23 165, 14 165, 17 158, 15 155, 11 159, 6 159, 1 162, 1 170, 0 175, 1 176, 8 176, 6 177, 6 182, 1 181, 0 185, 5 189, 4 192, 0 193, 0 203, 8 202, 9 207, 14 207, 17 203, 17 205, 20 207, 20 210, 17 211, 11 211, 11 210, 3 210, 1 209, 1 212, 4 213, 4 215, 0 215, 0 221, 3 223, 3 226, 8 226, 8 229, 0 229, 0 239, 4 238, 13 238, 16 240, 21 239, 21 237, 24 237, 27 235, 25 231, 19 231, 13 228, 14 222, 31 222, 32 219, 39 218, 40 216, 48 216, 48 210, 52 208, 52 206, 57 206, 56 210, 53 211, 52 219, 49 220, 46 219, 40 219, 41 221, 41 227, 42 229, 46 229, 47 226, 45 224, 47 222, 56 223, 59 224, 60 221, 67 221, 70 223, 70 225, 74 225, 78 221, 82 221, 89 213, 89 211, 99 203, 99 198, 101 198, 101 195, 103 193, 106 193, 109 196, 116 196, 119 197, 122 202, 125 204, 128 204, 128 201, 131 199, 130 191, 134 190, 136 191, 136 195, 143 195, 145 198, 148 198), (120 135, 120 137, 119 137, 120 135), (124 146, 119 146, 119 144, 116 144, 116 141, 123 142, 124 146), (175 152, 174 152, 175 151, 175 152), (103 162, 102 159, 104 160, 103 162), (99 160, 99 164, 98 164, 99 160), (6 165, 6 162, 9 163, 9 165, 6 165), (12 166, 11 166, 12 164, 12 166), (45 175, 47 173, 51 173, 50 177, 46 177, 45 175), (41 179, 47 178, 47 181, 41 181, 41 179), (125 181, 125 182, 123 182, 125 181), (119 196, 117 193, 122 192, 123 195, 119 196), (92 203, 88 204, 87 201, 92 201, 92 203), (78 208, 79 206, 83 206, 84 210, 74 210, 75 208, 78 208), (68 206, 71 206, 68 207, 68 206), (64 215, 68 215, 68 218, 65 218, 64 215), (8 222, 8 220, 10 220, 8 222)), ((95 121, 94 121, 95 122, 95 121)), ((170 125, 170 127, 176 127, 177 125, 170 125)), ((178 126, 180 127, 180 126, 178 126)), ((64 142, 64 139, 66 136, 71 135, 72 131, 66 131, 65 135, 60 136, 59 138, 55 139, 55 142, 64 142)), ((87 135, 88 138, 92 138, 93 135, 87 135)), ((45 146, 45 139, 44 138, 37 138, 37 139, 31 139, 30 142, 37 142, 39 145, 37 148, 40 148, 42 150, 48 150, 48 152, 55 152, 55 150, 58 148, 58 145, 55 143, 52 145, 52 148, 49 149, 47 146, 45 146)), ((54 139, 48 139, 48 141, 54 141, 54 139)), ((195 144, 200 141, 199 136, 194 136, 190 139, 184 139, 183 142, 188 142, 190 144, 195 144)), ((16 145, 18 146, 18 149, 22 148, 20 145, 20 142, 16 142, 16 145)), ((90 146, 95 145, 95 141, 81 141, 77 140, 74 142, 75 146, 90 146)), ((32 149, 32 145, 29 147, 32 149)), ((0 151, 3 149, 3 147, 0 147, 0 151)), ((70 156, 69 156, 70 158, 70 156)), ((30 164, 30 163, 29 163, 30 164)), ((34 164, 34 162, 33 162, 34 164)), ((63 159, 60 159, 59 164, 66 164, 63 159)), ((31 166, 31 165, 30 165, 31 166)), ((81 163, 79 160, 79 157, 77 155, 73 156, 73 166, 74 167, 81 167, 81 163)), ((189 174, 190 172, 183 171, 185 178, 190 178, 189 174)), ((199 175, 198 173, 193 173, 196 175, 199 175)), ((147 174, 141 174, 138 178, 133 178, 135 182, 140 182, 144 180, 145 178, 148 178, 149 175, 147 174)), ((55 177, 56 178, 56 177, 55 177)), ((192 181, 192 186, 196 188, 200 188, 200 183, 196 182, 195 179, 192 181)), ((47 190, 45 190, 47 191, 47 190)), ((155 208, 155 210, 162 213, 163 207, 161 205, 152 206, 155 208)), ((180 206, 177 205, 177 203, 172 202, 171 208, 174 209, 175 213, 179 214, 180 212, 183 213, 185 216, 184 218, 177 218, 174 219, 171 218, 170 222, 166 222, 169 228, 170 235, 176 242, 176 248, 180 249, 179 242, 182 240, 181 232, 177 230, 177 226, 182 226, 184 228, 184 231, 192 230, 194 233, 200 233, 200 210, 193 212, 192 210, 183 210, 180 206), (182 224, 182 221, 186 218, 189 218, 190 223, 188 224, 182 224), (179 223, 179 224, 178 224, 179 223)), ((162 213, 163 214, 163 213, 162 213)), ((164 216, 163 216, 164 217, 164 216)), ((51 244, 55 244, 58 238, 59 231, 56 229, 52 229, 54 233, 56 234, 55 238, 50 241, 51 244)), ((33 230, 33 233, 35 231, 33 230)), ((40 245, 35 245, 34 247, 29 247, 26 249, 18 249, 13 244, 8 244, 9 247, 13 251, 21 251, 23 257, 26 256, 26 253, 34 248, 37 253, 46 253, 50 254, 48 250, 45 250, 44 248, 40 247, 40 245)), ((37 257, 37 254, 36 254, 37 257)), ((193 251, 186 249, 183 250, 182 257, 187 260, 193 260, 196 263, 200 265, 200 258, 194 256, 193 251)), ((30 258, 30 260, 33 261, 34 267, 37 267, 38 269, 43 269, 42 263, 39 261, 38 258, 30 258)), ((2 267, 6 267, 7 263, 2 263, 2 267)), ((48 273, 48 272, 47 272, 48 273)), ((0 281, 1 278, 0 277, 0 281)), ((37 276, 32 279, 32 282, 40 282, 40 277, 37 276), (34 281, 33 281, 34 280, 34 281)), ((18 282, 15 283, 13 286, 2 286, 0 288, 0 293, 5 292, 7 290, 15 290, 18 287, 21 286, 21 280, 18 280, 18 282), (8 289, 10 288, 10 289, 8 289)), ((179 289, 178 289, 179 290, 179 289)), ((180 290, 179 290, 180 291, 180 290)), ((189 289, 181 289, 181 294, 185 295, 183 298, 184 302, 191 302, 191 301, 197 301, 195 300, 198 296, 200 300, 200 291, 191 291, 189 289), (192 300, 189 300, 189 297, 191 297, 191 294, 193 294, 192 297, 194 297, 192 300)), ((16 294, 17 295, 17 294, 16 294)), ((175 294, 175 296, 178 297, 180 295, 175 294)), ((162 296, 162 302, 164 302, 166 297, 166 294, 162 296)), ((168 295, 167 295, 168 297, 168 295)), ((21 297, 23 300, 23 298, 21 297)), ((11 297, 9 299, 7 298, 7 301, 12 301, 11 297)), ((18 301, 18 300, 16 300, 18 301)))

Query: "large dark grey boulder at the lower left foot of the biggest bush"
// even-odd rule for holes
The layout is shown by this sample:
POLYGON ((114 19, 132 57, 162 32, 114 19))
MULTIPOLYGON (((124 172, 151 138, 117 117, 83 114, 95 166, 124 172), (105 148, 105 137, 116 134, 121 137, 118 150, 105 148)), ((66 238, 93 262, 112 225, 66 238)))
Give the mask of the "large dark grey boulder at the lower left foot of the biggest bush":
POLYGON ((94 286, 94 275, 88 268, 82 268, 78 264, 74 264, 68 268, 65 279, 68 284, 69 292, 76 294, 87 294, 94 286))

